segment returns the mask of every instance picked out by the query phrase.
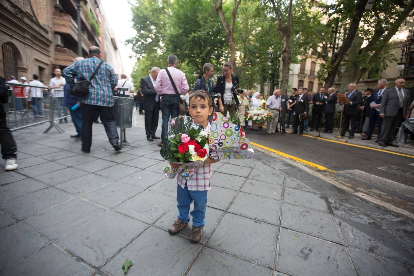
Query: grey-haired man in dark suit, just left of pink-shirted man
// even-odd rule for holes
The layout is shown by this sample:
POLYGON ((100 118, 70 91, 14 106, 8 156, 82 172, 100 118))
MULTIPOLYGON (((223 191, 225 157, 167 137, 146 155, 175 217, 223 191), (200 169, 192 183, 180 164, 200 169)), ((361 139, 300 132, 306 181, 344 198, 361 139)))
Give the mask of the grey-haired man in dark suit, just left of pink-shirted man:
POLYGON ((159 136, 155 135, 155 132, 158 127, 159 110, 161 109, 161 105, 159 95, 154 89, 159 70, 159 67, 152 67, 151 73, 148 76, 143 77, 140 82, 142 94, 144 94, 142 104, 145 111, 145 133, 147 134, 147 140, 149 142, 154 141, 154 139, 160 139, 159 136))

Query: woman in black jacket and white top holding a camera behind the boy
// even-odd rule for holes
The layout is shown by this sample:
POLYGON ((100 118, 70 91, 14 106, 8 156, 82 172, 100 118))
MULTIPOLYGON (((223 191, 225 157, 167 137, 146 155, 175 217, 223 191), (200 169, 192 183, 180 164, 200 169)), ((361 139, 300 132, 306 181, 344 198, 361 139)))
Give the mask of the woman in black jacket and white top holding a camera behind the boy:
POLYGON ((217 100, 219 111, 226 116, 227 111, 232 117, 236 116, 236 111, 239 105, 238 92, 232 87, 239 87, 238 76, 231 74, 233 66, 230 62, 224 62, 223 74, 217 77, 217 84, 215 87, 215 93, 221 93, 221 98, 217 100))

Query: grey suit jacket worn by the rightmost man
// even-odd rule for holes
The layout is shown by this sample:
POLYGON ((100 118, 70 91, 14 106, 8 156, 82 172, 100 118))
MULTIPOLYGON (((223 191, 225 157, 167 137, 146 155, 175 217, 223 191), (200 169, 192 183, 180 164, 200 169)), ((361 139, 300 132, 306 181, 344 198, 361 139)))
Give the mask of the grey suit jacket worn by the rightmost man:
MULTIPOLYGON (((409 91, 404 89, 404 103, 402 105, 402 115, 408 115, 410 112, 409 91)), ((386 117, 395 116, 398 112, 400 99, 398 98, 397 89, 394 87, 386 89, 381 100, 380 114, 385 114, 386 117)))

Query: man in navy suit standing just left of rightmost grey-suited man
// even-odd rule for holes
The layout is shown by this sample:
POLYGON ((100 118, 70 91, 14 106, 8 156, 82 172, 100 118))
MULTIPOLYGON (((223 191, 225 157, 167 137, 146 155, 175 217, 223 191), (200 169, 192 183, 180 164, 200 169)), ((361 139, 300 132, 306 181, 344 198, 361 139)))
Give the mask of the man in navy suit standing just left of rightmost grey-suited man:
POLYGON ((387 85, 386 79, 380 79, 377 83, 377 90, 375 90, 372 94, 371 103, 372 101, 375 102, 375 106, 370 103, 369 109, 369 127, 368 132, 366 133, 365 137, 362 137, 362 140, 371 140, 371 135, 375 129, 375 123, 378 124, 378 138, 375 140, 375 143, 378 143, 378 140, 381 137, 381 125, 383 123, 383 118, 380 117, 380 112, 377 111, 375 108, 380 108, 381 100, 383 99, 385 87, 387 85))

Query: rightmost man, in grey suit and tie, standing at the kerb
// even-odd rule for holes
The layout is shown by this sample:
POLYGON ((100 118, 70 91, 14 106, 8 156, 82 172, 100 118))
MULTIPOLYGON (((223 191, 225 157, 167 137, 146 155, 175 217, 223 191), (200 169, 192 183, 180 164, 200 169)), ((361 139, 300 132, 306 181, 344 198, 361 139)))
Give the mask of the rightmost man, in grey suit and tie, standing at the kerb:
POLYGON ((380 146, 395 146, 395 129, 397 125, 408 118, 410 100, 409 91, 404 89, 405 80, 397 79, 395 86, 386 89, 380 105, 380 117, 383 118, 380 146))

